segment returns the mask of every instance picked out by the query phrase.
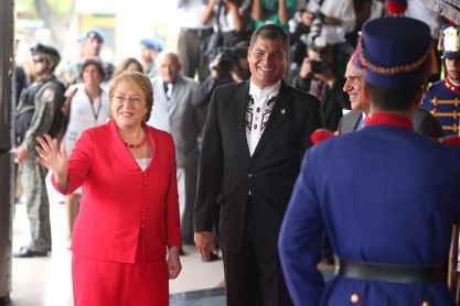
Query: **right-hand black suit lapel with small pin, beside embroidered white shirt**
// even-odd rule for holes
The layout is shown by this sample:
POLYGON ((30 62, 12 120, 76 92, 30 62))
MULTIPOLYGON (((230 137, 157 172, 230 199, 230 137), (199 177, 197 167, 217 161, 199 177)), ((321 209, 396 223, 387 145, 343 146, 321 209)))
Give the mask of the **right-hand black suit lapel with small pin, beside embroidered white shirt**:
POLYGON ((265 127, 265 131, 263 132, 252 157, 257 155, 257 153, 268 143, 270 138, 276 133, 276 131, 279 129, 282 122, 285 122, 285 120, 289 117, 289 114, 291 113, 291 100, 292 96, 288 90, 288 86, 284 80, 281 80, 281 87, 279 89, 275 107, 271 110, 267 125, 265 127))

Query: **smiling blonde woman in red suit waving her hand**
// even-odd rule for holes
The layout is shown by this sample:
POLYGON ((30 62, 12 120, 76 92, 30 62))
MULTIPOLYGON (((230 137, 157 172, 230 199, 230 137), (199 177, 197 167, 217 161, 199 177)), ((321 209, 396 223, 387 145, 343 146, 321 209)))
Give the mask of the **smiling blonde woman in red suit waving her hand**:
POLYGON ((169 305, 181 272, 175 152, 169 133, 146 124, 149 78, 126 72, 109 88, 110 120, 83 132, 67 161, 45 134, 39 162, 57 192, 82 188, 72 241, 75 305, 169 305))

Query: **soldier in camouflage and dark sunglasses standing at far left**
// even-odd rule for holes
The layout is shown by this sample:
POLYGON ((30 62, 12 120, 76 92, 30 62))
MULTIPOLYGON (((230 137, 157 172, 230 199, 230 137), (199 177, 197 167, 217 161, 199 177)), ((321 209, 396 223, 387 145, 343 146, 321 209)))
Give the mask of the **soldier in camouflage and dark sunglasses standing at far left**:
MULTIPOLYGON (((53 75, 61 61, 51 46, 38 44, 31 48, 32 70, 36 81, 21 97, 18 114, 30 113, 30 125, 21 135, 17 131, 17 160, 22 164, 22 185, 30 221, 31 242, 22 247, 15 258, 46 256, 51 251, 50 201, 46 193, 46 168, 36 162, 36 136, 50 133, 56 110, 61 108, 63 86, 53 75)), ((17 123, 22 119, 17 116, 17 123)))

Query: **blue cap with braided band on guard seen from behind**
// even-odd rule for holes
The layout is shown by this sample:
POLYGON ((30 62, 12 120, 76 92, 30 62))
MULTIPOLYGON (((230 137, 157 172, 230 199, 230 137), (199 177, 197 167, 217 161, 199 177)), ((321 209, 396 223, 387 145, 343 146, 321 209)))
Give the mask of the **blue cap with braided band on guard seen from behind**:
POLYGON ((383 88, 421 85, 432 46, 429 26, 405 17, 374 19, 363 25, 359 59, 368 84, 383 88))

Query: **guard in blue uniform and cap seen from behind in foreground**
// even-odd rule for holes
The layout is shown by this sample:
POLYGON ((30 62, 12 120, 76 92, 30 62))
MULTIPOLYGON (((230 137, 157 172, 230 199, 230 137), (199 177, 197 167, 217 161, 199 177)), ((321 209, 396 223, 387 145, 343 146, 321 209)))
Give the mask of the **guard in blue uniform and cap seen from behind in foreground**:
POLYGON ((364 24, 370 123, 307 151, 280 231, 296 305, 456 305, 443 263, 460 219, 460 150, 411 123, 431 52, 421 21, 364 24), (339 258, 328 283, 317 269, 324 230, 339 258))

